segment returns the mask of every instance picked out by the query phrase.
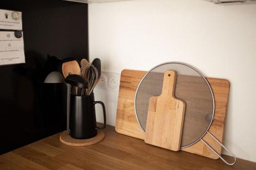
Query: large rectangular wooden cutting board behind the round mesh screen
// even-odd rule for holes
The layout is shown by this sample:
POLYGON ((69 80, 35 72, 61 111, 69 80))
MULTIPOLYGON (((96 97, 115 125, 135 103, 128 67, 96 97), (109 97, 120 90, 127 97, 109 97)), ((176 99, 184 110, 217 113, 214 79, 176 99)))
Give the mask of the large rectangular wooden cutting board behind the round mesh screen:
MULTIPOLYGON (((134 97, 138 84, 145 74, 146 71, 138 70, 125 69, 121 72, 116 116, 116 131, 118 133, 143 140, 145 138, 145 134, 137 122, 134 111, 134 97)), ((215 120, 209 131, 222 142, 229 96, 229 82, 224 79, 214 78, 207 78, 207 80, 210 83, 215 96, 215 120)), ((214 139, 207 134, 203 139, 219 154, 221 154, 221 146, 214 139)), ((183 148, 181 150, 212 159, 219 158, 202 141, 198 141, 190 147, 183 148)))

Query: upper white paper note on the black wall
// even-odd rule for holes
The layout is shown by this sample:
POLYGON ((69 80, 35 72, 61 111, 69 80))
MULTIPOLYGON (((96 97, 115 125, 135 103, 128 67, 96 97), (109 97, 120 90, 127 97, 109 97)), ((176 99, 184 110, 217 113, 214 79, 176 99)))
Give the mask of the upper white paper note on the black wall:
POLYGON ((22 12, 0 10, 0 29, 22 30, 22 12))

